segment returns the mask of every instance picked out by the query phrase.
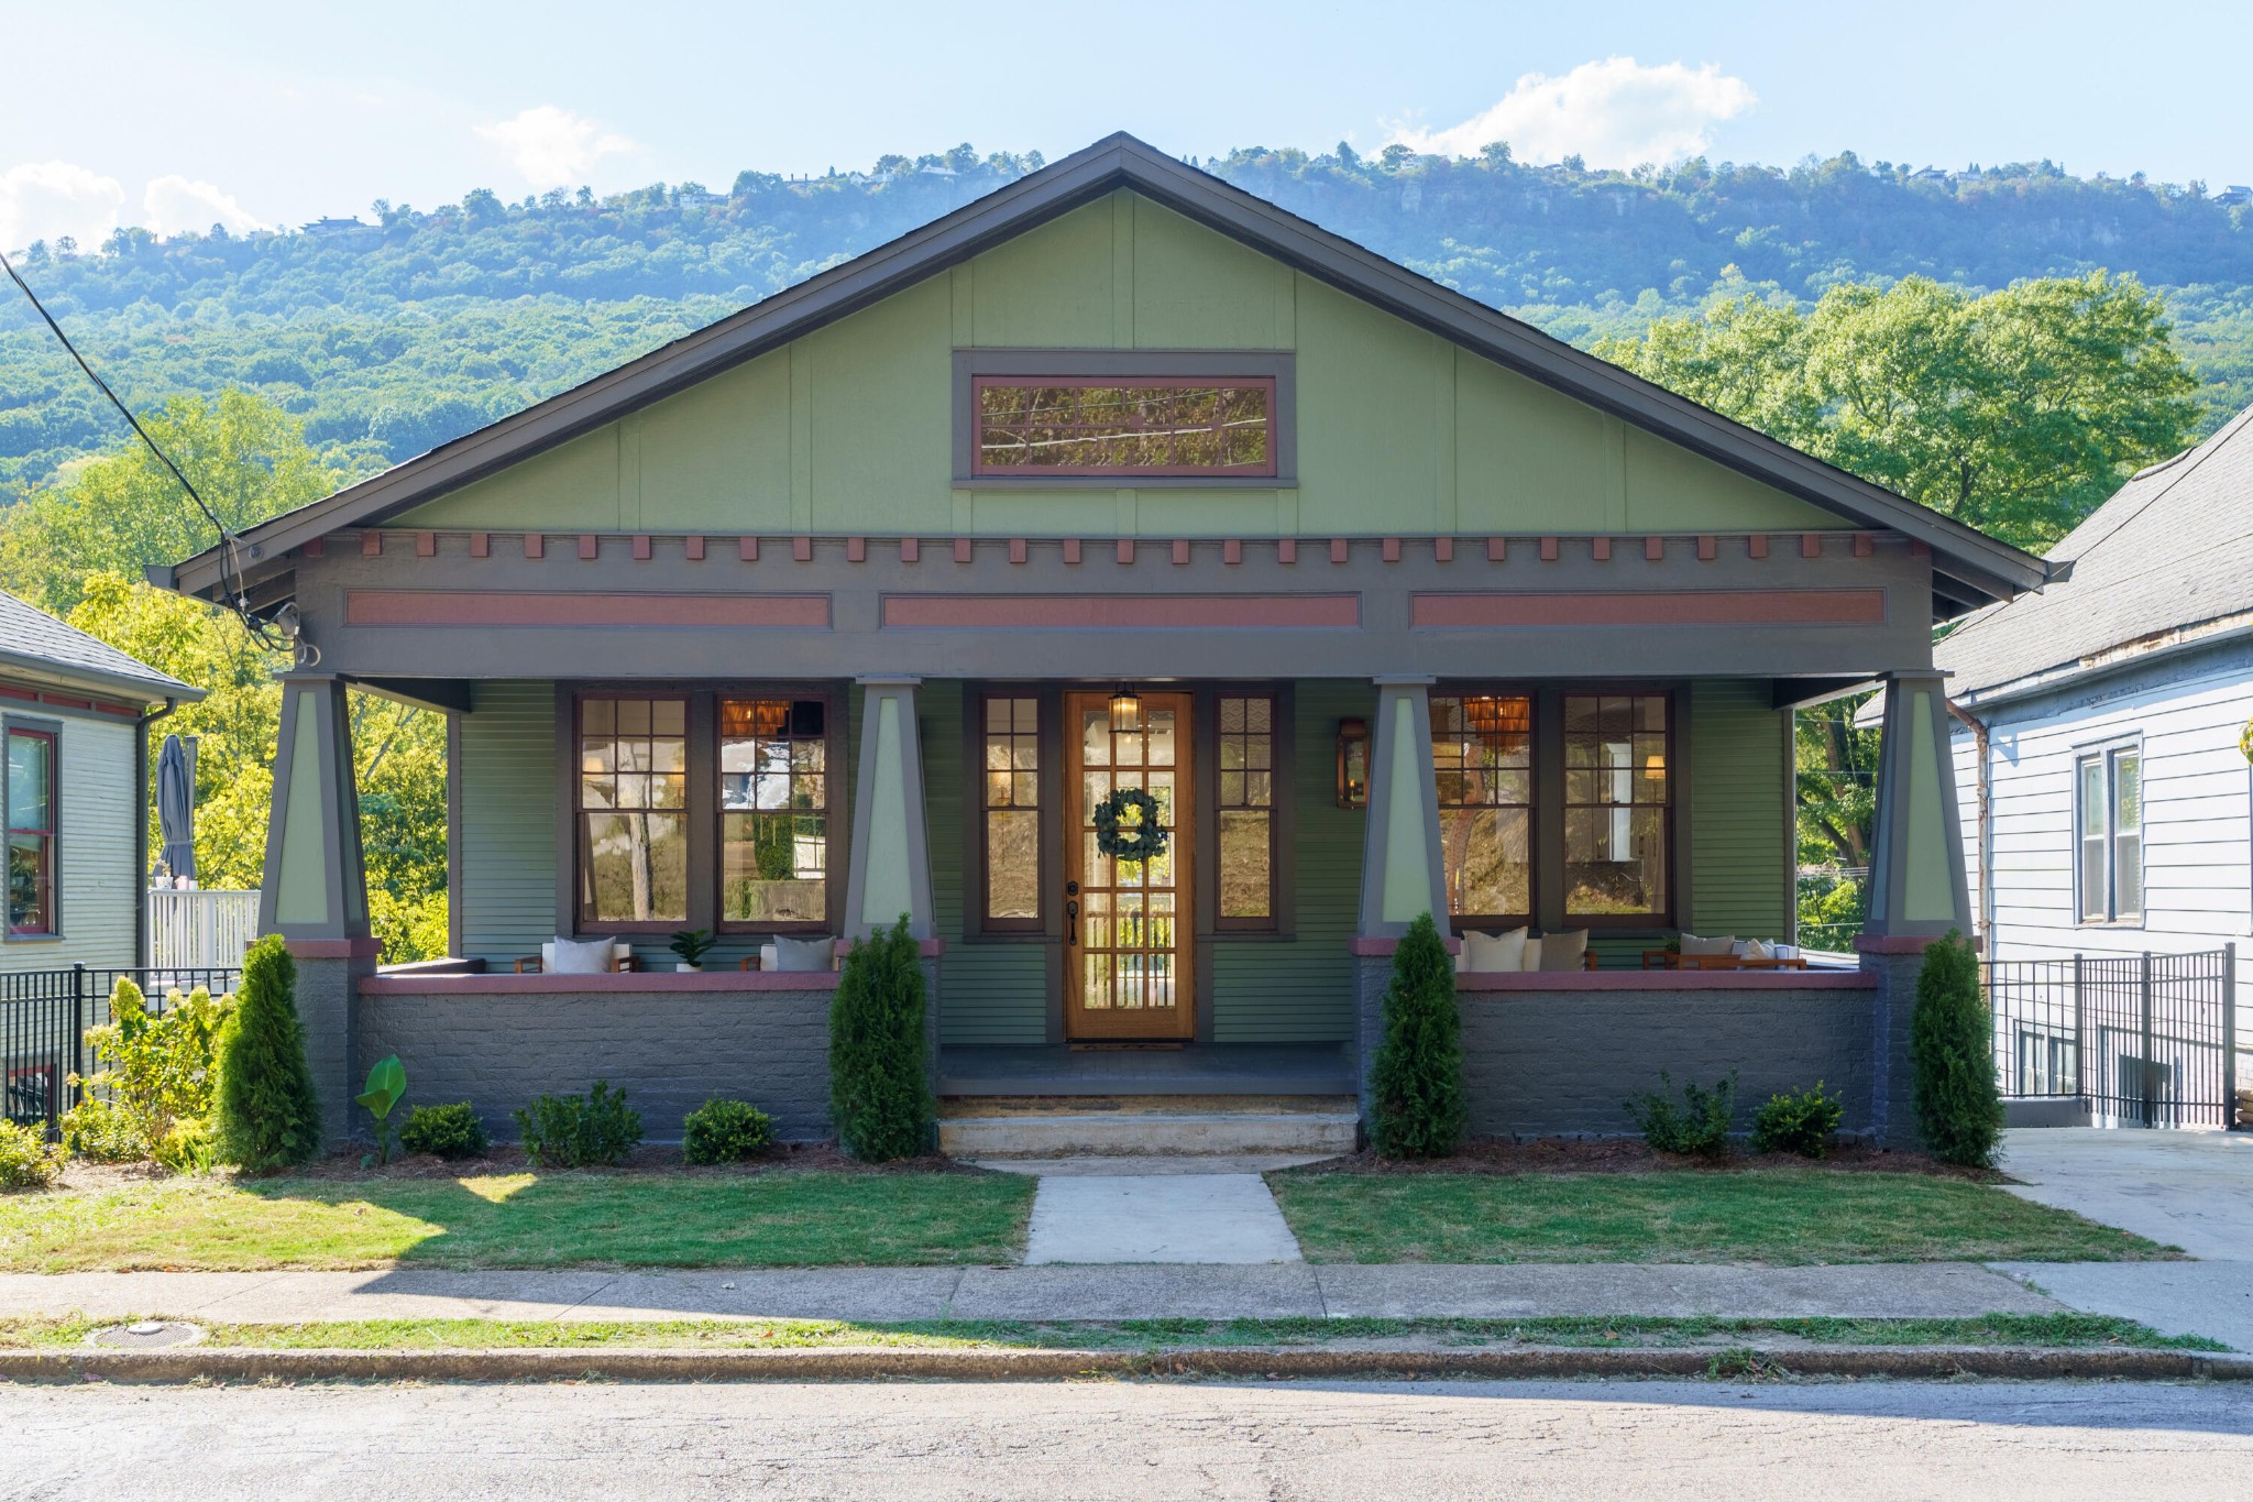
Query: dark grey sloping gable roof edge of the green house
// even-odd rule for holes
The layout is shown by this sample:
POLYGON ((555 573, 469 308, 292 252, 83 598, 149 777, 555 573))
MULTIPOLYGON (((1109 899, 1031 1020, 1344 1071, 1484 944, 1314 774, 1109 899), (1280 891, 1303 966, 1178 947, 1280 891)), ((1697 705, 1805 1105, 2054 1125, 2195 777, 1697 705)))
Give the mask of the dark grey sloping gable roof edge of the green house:
MULTIPOLYGON (((1532 324, 1419 277, 1406 266, 1176 162, 1124 133, 1104 137, 944 218, 935 218, 921 230, 784 288, 604 376, 250 529, 243 538, 246 552, 261 567, 246 570, 246 576, 275 572, 279 558, 300 543, 338 527, 381 522, 579 437, 1122 187, 1395 318, 1453 340, 1505 369, 1541 381, 1854 525, 1902 531, 1929 545, 1935 565, 1935 615, 1940 617, 2010 599, 2052 579, 2039 558, 2007 543, 1778 444, 1609 360, 1573 349, 1532 324)), ((151 570, 151 579, 164 588, 207 594, 232 570, 234 563, 225 558, 225 549, 212 547, 171 570, 151 570)))

